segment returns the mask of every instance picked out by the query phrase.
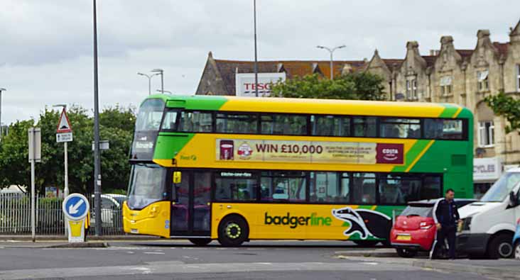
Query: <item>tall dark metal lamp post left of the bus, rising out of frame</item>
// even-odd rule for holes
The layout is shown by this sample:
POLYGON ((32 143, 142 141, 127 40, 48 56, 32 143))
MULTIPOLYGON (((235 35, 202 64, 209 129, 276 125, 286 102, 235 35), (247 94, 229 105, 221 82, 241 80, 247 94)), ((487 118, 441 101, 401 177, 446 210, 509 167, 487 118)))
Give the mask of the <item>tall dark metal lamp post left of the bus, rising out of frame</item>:
POLYGON ((101 233, 101 172, 99 159, 99 97, 97 89, 97 16, 94 2, 94 215, 96 217, 96 236, 101 233))

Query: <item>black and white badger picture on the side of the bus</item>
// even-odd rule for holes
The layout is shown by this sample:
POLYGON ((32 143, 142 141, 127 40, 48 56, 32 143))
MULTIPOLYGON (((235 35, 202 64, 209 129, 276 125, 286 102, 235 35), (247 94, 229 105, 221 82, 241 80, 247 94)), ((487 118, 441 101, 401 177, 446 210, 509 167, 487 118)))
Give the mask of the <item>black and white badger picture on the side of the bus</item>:
POLYGON ((388 238, 391 218, 383 213, 369 209, 354 210, 350 207, 344 207, 332 209, 332 215, 338 220, 350 223, 350 228, 343 233, 345 236, 350 237, 354 233, 358 233, 362 240, 370 236, 381 239, 388 238))

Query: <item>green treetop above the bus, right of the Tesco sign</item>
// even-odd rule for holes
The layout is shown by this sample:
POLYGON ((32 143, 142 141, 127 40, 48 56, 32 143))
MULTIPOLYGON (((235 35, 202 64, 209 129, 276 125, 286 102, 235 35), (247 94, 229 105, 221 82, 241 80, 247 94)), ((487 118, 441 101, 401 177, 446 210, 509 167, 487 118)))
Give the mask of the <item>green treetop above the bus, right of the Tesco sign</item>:
POLYGON ((296 77, 271 86, 273 96, 311 99, 384 100, 383 78, 369 72, 323 79, 318 74, 296 77))

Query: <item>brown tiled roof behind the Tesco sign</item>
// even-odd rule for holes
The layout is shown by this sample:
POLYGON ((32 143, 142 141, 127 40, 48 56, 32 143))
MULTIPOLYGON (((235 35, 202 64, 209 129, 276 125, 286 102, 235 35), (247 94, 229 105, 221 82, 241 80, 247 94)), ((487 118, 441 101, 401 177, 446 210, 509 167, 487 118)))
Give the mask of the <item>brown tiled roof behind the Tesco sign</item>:
MULTIPOLYGON (((339 75, 345 66, 352 71, 359 71, 367 62, 364 60, 335 60, 333 63, 334 74, 339 75)), ((227 92, 235 94, 235 74, 254 73, 254 62, 244 60, 215 60, 217 70, 227 92)), ((303 77, 307 74, 319 72, 324 77, 330 77, 330 61, 328 60, 271 60, 258 62, 259 73, 286 72, 288 79, 303 77)))

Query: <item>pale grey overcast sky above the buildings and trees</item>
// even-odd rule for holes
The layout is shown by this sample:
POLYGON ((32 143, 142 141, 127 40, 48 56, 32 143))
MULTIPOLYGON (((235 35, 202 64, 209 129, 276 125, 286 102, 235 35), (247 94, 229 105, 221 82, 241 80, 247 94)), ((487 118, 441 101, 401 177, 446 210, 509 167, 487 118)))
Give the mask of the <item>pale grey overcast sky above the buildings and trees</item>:
MULTIPOLYGON (((98 0, 100 107, 136 106, 148 80, 136 72, 165 70, 165 90, 193 94, 207 52, 252 60, 252 0, 98 0)), ((92 1, 2 0, 2 121, 38 118, 45 106, 93 106, 92 1)), ((403 58, 406 41, 423 55, 441 35, 474 48, 478 29, 507 41, 520 19, 519 0, 344 1, 258 0, 259 60, 327 60, 315 45, 347 47, 338 60, 403 58), (455 4, 456 2, 456 4, 455 4)), ((161 87, 153 78, 152 90, 161 87)))

